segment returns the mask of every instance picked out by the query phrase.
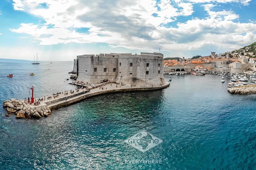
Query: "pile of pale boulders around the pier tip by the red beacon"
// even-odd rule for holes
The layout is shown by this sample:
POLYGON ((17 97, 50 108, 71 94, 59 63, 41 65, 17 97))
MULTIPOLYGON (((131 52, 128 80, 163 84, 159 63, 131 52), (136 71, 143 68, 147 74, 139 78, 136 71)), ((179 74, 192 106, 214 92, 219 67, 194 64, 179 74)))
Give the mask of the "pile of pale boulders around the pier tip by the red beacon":
POLYGON ((40 119, 42 117, 48 117, 51 115, 51 110, 48 108, 46 110, 36 110, 28 107, 24 102, 17 99, 10 99, 3 102, 3 107, 6 109, 6 116, 11 114, 16 114, 16 118, 35 118, 40 119))

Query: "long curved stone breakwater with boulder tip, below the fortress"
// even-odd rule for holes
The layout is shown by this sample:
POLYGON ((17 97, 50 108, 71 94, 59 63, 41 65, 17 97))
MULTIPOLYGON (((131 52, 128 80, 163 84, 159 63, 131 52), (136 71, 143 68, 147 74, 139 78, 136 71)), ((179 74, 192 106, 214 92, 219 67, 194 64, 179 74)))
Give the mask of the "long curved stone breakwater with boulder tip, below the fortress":
POLYGON ((73 91, 73 93, 60 94, 58 97, 55 97, 54 99, 51 98, 51 99, 47 99, 46 101, 41 101, 38 106, 35 106, 33 104, 28 104, 26 102, 23 102, 17 99, 10 99, 3 102, 3 107, 5 107, 7 110, 7 114, 6 114, 7 116, 9 116, 10 114, 16 114, 17 119, 18 118, 40 119, 42 117, 50 116, 51 110, 53 109, 67 106, 92 96, 107 94, 107 93, 123 92, 123 91, 159 90, 162 88, 166 88, 169 85, 170 83, 166 82, 164 85, 160 85, 157 87, 130 87, 126 85, 117 86, 114 83, 112 84, 112 83, 106 82, 106 83, 101 83, 99 85, 89 87, 84 90, 77 90, 76 92, 73 91))

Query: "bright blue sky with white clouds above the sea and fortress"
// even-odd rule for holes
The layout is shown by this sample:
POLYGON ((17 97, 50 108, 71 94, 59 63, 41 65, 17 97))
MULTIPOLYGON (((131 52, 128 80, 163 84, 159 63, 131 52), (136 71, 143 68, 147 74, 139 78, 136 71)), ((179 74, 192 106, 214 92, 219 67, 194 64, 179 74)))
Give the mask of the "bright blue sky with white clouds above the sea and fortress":
POLYGON ((256 0, 1 0, 0 23, 0 58, 191 58, 256 42, 256 0))

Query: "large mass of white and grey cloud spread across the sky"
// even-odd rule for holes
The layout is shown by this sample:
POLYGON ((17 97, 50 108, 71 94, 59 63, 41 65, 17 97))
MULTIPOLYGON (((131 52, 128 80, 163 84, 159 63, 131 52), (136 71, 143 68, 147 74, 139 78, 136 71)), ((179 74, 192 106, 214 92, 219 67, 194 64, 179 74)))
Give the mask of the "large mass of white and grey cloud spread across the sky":
MULTIPOLYGON (((65 43, 107 43, 110 48, 163 51, 189 54, 201 48, 229 49, 251 43, 256 38, 255 23, 239 23, 232 10, 215 10, 217 3, 250 0, 13 0, 15 10, 39 16, 46 23, 21 23, 12 32, 32 35, 40 45, 65 43), (171 27, 178 17, 191 16, 194 3, 208 16, 192 18, 171 27), (47 3, 43 8, 42 3, 47 3), (50 27, 51 26, 51 27, 50 27), (85 33, 76 29, 86 27, 85 33), (246 33, 246 34, 245 34, 246 33)), ((227 50, 225 50, 227 51, 227 50)), ((103 51, 104 52, 104 51, 103 51)), ((223 52, 223 51, 222 51, 223 52)), ((192 55, 192 54, 190 54, 192 55)), ((202 54, 198 54, 202 55, 202 54)))

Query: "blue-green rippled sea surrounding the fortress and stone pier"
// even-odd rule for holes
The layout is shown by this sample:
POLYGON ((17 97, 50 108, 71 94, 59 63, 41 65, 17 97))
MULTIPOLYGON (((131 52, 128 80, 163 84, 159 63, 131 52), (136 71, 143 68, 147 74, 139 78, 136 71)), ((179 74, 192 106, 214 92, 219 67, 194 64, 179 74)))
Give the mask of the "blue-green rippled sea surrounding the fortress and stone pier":
MULTIPOLYGON (((72 69, 73 61, 0 59, 0 102, 28 98, 32 85, 35 98, 75 89, 72 69)), ((255 169, 256 95, 229 93, 218 75, 170 77, 162 90, 94 96, 39 120, 0 107, 0 169, 255 169), (145 152, 125 142, 141 132, 162 142, 145 152)))

